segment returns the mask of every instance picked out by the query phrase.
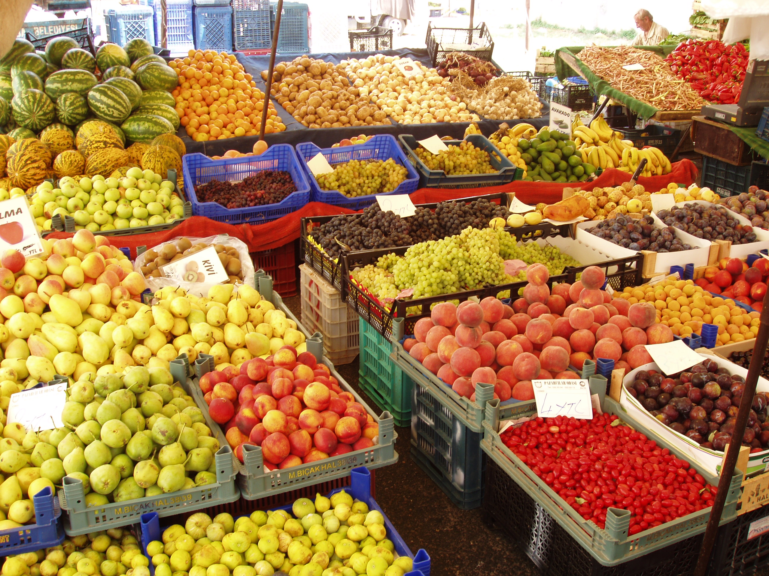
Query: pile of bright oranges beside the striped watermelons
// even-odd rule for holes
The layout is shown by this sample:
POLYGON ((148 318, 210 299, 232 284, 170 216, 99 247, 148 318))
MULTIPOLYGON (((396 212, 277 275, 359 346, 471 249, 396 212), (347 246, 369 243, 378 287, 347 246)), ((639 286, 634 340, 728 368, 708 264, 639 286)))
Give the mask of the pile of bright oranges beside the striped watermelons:
MULTIPOLYGON (((259 134, 265 94, 235 55, 190 50, 187 58, 175 58, 168 65, 179 77, 178 88, 171 94, 189 137, 202 142, 259 134)), ((270 102, 265 134, 285 129, 270 102)))

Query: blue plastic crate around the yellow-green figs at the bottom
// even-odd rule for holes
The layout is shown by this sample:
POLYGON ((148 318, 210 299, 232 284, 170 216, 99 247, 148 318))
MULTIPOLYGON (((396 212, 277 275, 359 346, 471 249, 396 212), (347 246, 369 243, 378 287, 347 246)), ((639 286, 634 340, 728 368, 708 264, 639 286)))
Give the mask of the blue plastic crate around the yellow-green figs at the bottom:
MULTIPOLYGON (((401 535, 395 530, 390 519, 384 514, 384 511, 379 507, 375 499, 371 498, 371 472, 368 471, 368 468, 352 468, 350 471, 350 485, 346 488, 332 490, 328 494, 328 497, 330 498, 331 495, 341 492, 342 490, 345 490, 345 492, 355 498, 355 500, 365 502, 368 505, 369 510, 376 510, 384 517, 384 528, 387 529, 387 537, 392 541, 395 547, 395 553, 398 554, 398 556, 408 556, 414 561, 412 567, 414 571, 408 572, 407 574, 404 574, 404 576, 418 576, 418 574, 422 574, 422 576, 430 576, 430 555, 427 551, 425 551, 424 548, 420 548, 416 554, 412 553, 403 538, 401 538, 401 535)), ((290 513, 292 505, 293 502, 289 505, 280 506, 275 509, 285 510, 290 513)), ((160 518, 158 518, 158 515, 155 512, 143 514, 141 515, 139 526, 141 528, 141 551, 144 552, 144 554, 147 554, 147 545, 151 541, 161 539, 162 531, 160 528, 160 518)), ((149 569, 153 571, 151 564, 149 569)))

